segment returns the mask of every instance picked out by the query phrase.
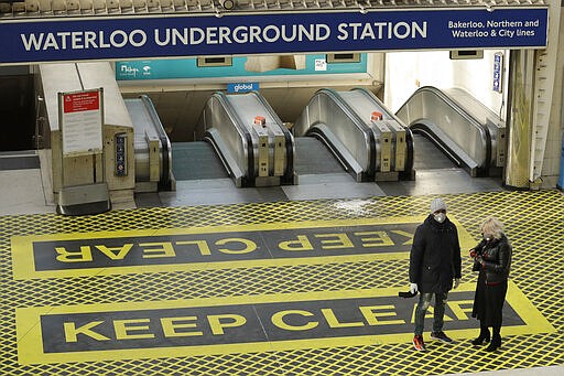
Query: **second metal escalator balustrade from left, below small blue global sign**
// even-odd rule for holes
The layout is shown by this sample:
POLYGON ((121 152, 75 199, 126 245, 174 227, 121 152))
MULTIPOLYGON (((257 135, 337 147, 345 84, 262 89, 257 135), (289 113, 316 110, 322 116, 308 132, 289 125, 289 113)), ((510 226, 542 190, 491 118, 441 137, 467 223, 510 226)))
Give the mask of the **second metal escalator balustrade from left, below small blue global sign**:
POLYGON ((294 184, 294 140, 267 100, 256 92, 215 93, 196 125, 236 186, 294 184))

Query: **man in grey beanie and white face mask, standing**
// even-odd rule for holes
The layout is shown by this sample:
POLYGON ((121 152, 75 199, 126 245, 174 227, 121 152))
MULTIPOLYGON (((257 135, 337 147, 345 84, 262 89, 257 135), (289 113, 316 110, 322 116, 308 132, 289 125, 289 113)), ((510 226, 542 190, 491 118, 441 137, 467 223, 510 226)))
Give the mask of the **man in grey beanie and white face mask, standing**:
POLYGON ((420 292, 415 309, 415 350, 425 351, 424 319, 433 296, 435 305, 431 339, 453 342, 443 332, 445 302, 453 282, 455 289, 460 282, 460 270, 458 230, 446 216, 446 203, 435 198, 431 202, 431 214, 415 230, 410 254, 410 291, 420 292))

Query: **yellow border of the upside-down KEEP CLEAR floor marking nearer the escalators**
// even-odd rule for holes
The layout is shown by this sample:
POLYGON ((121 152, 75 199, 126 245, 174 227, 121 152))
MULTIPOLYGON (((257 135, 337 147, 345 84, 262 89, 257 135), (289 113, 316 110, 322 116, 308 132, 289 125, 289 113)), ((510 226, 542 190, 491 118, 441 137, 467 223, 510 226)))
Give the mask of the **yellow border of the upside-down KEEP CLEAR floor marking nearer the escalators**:
MULTIPOLYGON (((116 232, 88 232, 75 234, 48 234, 48 235, 30 235, 30 236, 12 236, 12 259, 13 259, 13 277, 14 279, 32 279, 32 278, 59 278, 59 277, 79 277, 79 276, 106 276, 106 275, 123 275, 132 272, 159 272, 159 271, 185 271, 185 270, 202 270, 202 269, 225 269, 238 267, 268 267, 268 266, 292 266, 292 265, 316 265, 326 262, 345 262, 345 261, 365 261, 365 260, 391 260, 391 259, 405 259, 409 258, 409 251, 386 251, 386 253, 365 253, 355 254, 351 251, 347 255, 339 256, 302 256, 288 257, 288 258, 262 258, 262 259, 242 259, 237 260, 231 256, 231 259, 225 261, 207 261, 207 262, 174 262, 174 258, 169 258, 171 261, 162 265, 137 265, 137 266, 115 266, 115 267, 88 267, 80 268, 79 266, 72 267, 69 262, 64 269, 59 270, 36 270, 37 265, 34 258, 34 245, 40 243, 52 241, 56 243, 68 240, 84 240, 85 246, 97 245, 104 239, 119 239, 128 238, 130 241, 137 237, 166 237, 178 235, 213 235, 217 233, 268 233, 283 229, 293 229, 296 234, 300 230, 319 229, 319 228, 339 228, 339 227, 354 227, 354 226, 399 226, 408 224, 416 227, 425 219, 424 216, 413 217, 393 217, 393 218, 357 218, 346 221, 304 221, 294 223, 271 223, 258 225, 234 225, 234 226, 207 226, 197 228, 163 228, 163 229, 149 229, 149 230, 116 230, 116 232), (86 241, 88 244, 86 244, 86 241)), ((475 245, 473 237, 466 232, 456 218, 452 218, 453 223, 457 225, 459 243, 463 250, 468 249, 475 245)), ((411 234, 413 235, 413 234, 411 234)), ((268 236, 268 234, 267 234, 268 236)), ((409 239, 403 243, 403 246, 410 246, 409 239)), ((80 245, 75 245, 75 249, 69 253, 77 253, 80 245)), ((390 250, 393 246, 390 246, 390 250)), ((119 253, 112 250, 112 257, 119 257, 119 253)), ((163 251, 164 253, 164 251, 163 251)), ((53 254, 53 259, 56 254, 53 254)), ((297 255, 296 255, 297 256, 297 255)), ((151 257, 155 257, 153 254, 151 257)), ((164 258, 164 257, 163 257, 164 258)), ((54 261, 54 260, 52 260, 54 261)), ((75 262, 76 264, 76 262, 75 262)))

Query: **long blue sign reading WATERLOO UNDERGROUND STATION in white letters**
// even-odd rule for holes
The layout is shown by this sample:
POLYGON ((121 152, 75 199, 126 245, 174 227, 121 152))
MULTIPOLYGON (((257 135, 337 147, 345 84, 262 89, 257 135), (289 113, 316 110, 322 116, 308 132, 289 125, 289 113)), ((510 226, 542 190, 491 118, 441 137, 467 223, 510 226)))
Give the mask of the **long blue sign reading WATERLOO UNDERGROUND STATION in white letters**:
POLYGON ((9 20, 0 63, 463 49, 542 49, 547 8, 9 20))

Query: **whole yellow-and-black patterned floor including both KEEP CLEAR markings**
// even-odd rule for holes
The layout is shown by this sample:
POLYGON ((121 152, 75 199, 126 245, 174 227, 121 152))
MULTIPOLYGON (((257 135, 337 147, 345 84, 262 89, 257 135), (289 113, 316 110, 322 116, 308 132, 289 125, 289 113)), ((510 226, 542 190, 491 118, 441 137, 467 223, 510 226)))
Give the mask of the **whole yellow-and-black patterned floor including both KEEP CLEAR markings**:
POLYGON ((436 194, 0 216, 2 375, 446 375, 563 364, 564 195, 444 193, 463 256, 488 215, 513 248, 503 344, 412 345, 415 226, 436 194))

